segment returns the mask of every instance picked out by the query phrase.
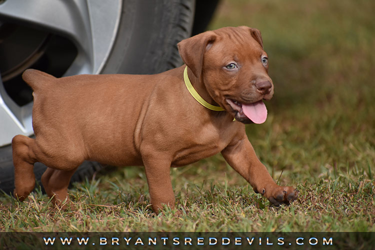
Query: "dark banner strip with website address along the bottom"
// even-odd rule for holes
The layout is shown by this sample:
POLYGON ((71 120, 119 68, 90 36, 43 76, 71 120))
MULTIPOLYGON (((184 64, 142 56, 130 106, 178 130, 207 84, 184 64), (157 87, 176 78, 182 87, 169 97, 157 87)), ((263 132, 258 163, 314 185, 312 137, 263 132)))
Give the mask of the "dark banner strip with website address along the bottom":
POLYGON ((0 232, 0 249, 375 249, 375 232, 0 232))

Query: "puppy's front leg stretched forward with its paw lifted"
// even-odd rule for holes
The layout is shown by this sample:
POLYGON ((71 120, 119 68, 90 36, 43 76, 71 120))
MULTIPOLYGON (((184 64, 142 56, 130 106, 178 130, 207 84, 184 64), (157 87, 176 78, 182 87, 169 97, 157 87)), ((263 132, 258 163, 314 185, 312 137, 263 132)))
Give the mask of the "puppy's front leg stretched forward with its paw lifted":
POLYGON ((272 204, 288 204, 297 198, 296 189, 291 186, 279 186, 274 182, 265 166, 256 157, 246 134, 225 147, 221 154, 229 165, 251 184, 256 193, 267 197, 272 204))

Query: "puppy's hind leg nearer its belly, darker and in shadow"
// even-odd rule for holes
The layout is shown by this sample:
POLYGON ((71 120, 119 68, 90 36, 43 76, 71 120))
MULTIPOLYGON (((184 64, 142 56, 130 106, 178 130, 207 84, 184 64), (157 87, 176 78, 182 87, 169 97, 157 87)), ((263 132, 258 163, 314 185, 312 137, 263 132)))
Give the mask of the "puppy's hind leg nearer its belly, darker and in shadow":
POLYGON ((55 205, 59 206, 65 199, 69 199, 67 187, 76 169, 77 167, 71 170, 58 170, 48 167, 41 176, 41 183, 45 192, 52 198, 55 205))

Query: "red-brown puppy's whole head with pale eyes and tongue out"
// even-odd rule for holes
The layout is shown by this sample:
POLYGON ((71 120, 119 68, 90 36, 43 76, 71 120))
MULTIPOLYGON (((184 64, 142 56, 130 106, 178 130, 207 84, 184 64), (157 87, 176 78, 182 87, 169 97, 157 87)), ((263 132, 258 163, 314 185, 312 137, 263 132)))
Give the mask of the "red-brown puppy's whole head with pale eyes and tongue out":
POLYGON ((243 123, 262 123, 262 99, 273 95, 268 57, 259 30, 224 27, 180 41, 182 60, 204 84, 209 95, 243 123))

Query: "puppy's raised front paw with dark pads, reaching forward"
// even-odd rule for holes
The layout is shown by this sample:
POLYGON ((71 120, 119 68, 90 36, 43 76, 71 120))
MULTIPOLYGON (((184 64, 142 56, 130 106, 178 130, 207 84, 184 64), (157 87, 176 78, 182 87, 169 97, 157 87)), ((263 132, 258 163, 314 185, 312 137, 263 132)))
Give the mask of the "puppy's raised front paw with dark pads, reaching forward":
POLYGON ((270 187, 263 187, 259 189, 254 188, 256 193, 262 194, 268 198, 273 205, 280 205, 281 203, 289 204, 290 201, 298 197, 298 190, 292 186, 273 185, 270 187))

